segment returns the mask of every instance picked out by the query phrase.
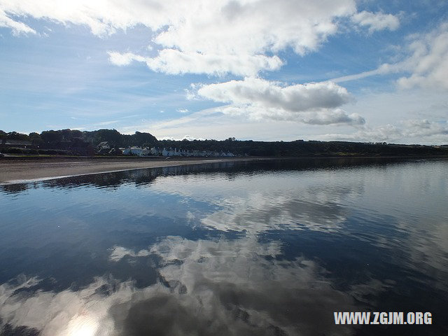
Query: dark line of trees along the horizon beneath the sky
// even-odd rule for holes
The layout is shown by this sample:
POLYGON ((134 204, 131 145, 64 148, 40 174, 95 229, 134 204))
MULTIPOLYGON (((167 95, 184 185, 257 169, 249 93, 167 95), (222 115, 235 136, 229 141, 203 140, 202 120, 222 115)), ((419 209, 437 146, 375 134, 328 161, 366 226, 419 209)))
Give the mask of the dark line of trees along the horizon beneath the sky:
POLYGON ((120 134, 117 130, 49 130, 40 134, 31 132, 0 131, 0 141, 6 139, 29 141, 39 148, 60 148, 60 144, 83 141, 96 147, 107 141, 113 148, 129 146, 179 148, 188 151, 231 152, 235 155, 251 156, 381 156, 381 155, 448 155, 448 146, 400 145, 386 143, 361 143, 349 141, 252 141, 236 140, 158 140, 152 134, 135 132, 120 134))

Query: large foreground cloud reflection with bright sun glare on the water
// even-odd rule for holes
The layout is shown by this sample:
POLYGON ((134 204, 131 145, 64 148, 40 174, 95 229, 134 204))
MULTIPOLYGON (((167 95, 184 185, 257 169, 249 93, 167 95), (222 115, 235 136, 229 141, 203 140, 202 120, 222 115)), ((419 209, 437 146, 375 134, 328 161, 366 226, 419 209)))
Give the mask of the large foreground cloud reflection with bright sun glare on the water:
POLYGON ((59 293, 32 290, 34 278, 3 284, 3 323, 45 336, 327 335, 335 328, 351 335, 334 325, 332 311, 355 309, 353 298, 333 289, 315 261, 279 258, 279 241, 167 237, 137 253, 116 246, 111 260, 120 255, 157 256, 160 281, 136 288, 132 281, 98 277, 86 288, 59 293))

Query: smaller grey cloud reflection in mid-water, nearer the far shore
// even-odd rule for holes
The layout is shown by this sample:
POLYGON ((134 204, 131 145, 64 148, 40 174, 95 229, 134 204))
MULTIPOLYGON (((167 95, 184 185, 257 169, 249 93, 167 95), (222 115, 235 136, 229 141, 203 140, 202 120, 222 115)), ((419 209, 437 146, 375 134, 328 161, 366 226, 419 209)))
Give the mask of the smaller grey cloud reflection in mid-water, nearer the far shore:
POLYGON ((241 174, 232 180, 216 175, 207 183, 198 182, 173 176, 151 190, 214 205, 213 211, 197 216, 206 228, 251 233, 285 229, 335 232, 349 216, 347 202, 363 193, 363 181, 343 181, 341 186, 341 181, 332 181, 332 174, 325 170, 241 174))

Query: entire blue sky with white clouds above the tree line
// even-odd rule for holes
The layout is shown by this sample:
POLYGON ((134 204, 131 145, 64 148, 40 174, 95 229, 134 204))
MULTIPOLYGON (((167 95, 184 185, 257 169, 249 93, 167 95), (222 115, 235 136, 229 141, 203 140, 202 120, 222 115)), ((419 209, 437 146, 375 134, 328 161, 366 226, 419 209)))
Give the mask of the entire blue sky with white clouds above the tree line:
POLYGON ((0 0, 0 130, 448 144, 448 1, 0 0))

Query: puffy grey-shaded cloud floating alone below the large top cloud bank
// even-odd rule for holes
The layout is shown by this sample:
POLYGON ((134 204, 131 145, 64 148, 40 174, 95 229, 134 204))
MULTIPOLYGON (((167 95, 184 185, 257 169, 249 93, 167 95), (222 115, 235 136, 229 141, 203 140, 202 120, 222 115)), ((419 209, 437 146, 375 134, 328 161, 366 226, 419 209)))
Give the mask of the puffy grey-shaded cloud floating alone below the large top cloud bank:
POLYGON ((296 120, 313 125, 361 125, 356 113, 347 115, 339 106, 351 101, 349 92, 332 82, 284 85, 261 78, 244 78, 202 85, 197 95, 228 103, 218 110, 251 119, 296 120))

